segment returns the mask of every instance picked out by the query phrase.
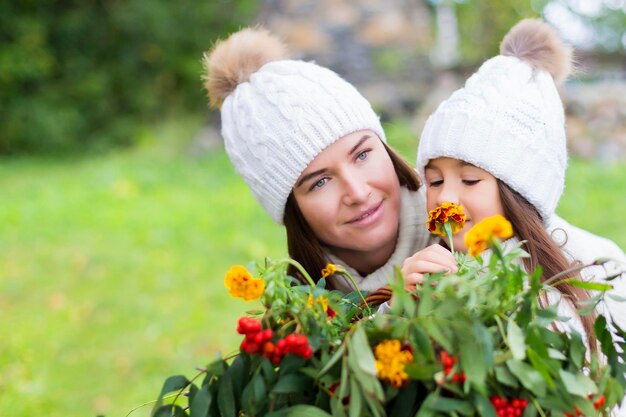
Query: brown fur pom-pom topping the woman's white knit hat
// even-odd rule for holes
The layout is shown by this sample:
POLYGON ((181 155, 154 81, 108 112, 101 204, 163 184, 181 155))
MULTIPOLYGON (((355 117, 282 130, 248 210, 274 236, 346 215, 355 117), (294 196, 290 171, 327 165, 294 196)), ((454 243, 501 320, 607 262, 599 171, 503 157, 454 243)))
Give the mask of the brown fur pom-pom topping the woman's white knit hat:
POLYGON ((285 44, 262 28, 242 29, 218 41, 203 60, 204 87, 211 106, 220 108, 226 97, 259 68, 286 57, 285 44))

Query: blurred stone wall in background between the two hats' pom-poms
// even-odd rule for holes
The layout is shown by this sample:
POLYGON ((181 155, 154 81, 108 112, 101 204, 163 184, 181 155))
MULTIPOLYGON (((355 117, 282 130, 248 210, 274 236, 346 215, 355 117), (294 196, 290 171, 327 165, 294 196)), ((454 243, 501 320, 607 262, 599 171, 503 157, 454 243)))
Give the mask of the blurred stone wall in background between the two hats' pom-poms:
POLYGON ((432 82, 430 19, 425 0, 264 0, 258 20, 292 56, 333 69, 397 115, 411 113, 432 82))

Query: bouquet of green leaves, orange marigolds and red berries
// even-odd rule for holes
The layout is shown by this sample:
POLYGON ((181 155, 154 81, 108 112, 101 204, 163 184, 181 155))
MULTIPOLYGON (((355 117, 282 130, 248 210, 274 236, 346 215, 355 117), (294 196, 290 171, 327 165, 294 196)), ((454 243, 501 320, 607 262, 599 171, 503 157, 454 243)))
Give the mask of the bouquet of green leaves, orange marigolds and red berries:
MULTIPOLYGON (((439 230, 451 234, 455 225, 445 225, 461 221, 441 215, 439 230)), ((377 308, 372 294, 327 289, 346 273, 334 265, 317 283, 290 259, 266 259, 259 278, 233 267, 225 279, 230 293, 262 306, 233 324, 238 353, 191 379, 168 378, 152 415, 608 415, 626 388, 624 331, 597 316, 597 352, 577 332, 563 331, 556 305, 538 299, 567 281, 597 293, 579 306, 590 314, 610 284, 565 274, 542 283, 540 271, 521 266, 527 254, 520 245, 500 242, 507 223, 488 219, 468 232, 475 256, 455 254, 455 274, 427 275, 407 292, 397 271, 387 308, 377 308), (491 249, 489 259, 481 247, 491 249), (290 264, 307 285, 287 275, 290 264)))

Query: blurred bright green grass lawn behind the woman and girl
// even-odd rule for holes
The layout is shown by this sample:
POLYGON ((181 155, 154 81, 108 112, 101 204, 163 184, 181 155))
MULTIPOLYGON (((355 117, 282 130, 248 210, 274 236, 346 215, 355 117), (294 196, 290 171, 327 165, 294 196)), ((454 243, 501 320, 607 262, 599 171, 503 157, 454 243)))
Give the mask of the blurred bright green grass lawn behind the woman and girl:
MULTIPOLYGON (((2 415, 124 416, 236 348, 256 304, 232 300, 224 272, 283 256, 284 233, 221 150, 185 152, 198 124, 132 151, 0 160, 2 415)), ((406 126, 389 138, 414 159, 406 126)), ((560 213, 626 247, 626 166, 572 161, 567 184, 560 213)))

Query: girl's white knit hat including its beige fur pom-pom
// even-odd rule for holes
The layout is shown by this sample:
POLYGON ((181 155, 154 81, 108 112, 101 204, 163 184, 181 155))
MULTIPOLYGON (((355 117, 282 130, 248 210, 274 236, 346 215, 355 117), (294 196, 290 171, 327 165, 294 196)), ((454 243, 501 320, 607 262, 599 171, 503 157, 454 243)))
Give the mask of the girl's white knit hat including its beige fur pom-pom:
POLYGON ((417 168, 424 178, 431 159, 471 163, 520 193, 547 221, 565 185, 565 116, 555 79, 567 77, 571 50, 546 23, 527 19, 509 31, 500 53, 430 116, 417 168))

